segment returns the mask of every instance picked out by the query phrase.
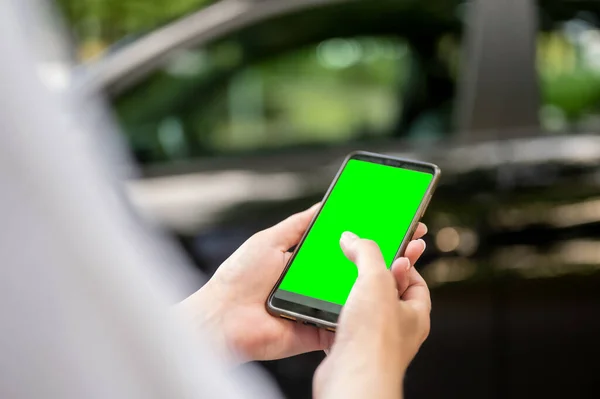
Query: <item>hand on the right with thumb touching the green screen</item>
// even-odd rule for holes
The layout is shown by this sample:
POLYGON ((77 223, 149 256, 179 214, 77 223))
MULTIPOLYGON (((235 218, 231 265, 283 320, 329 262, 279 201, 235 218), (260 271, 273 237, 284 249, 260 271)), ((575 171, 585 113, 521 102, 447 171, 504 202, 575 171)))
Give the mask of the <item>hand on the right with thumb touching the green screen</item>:
POLYGON ((405 258, 390 273, 373 241, 347 232, 340 244, 358 278, 315 374, 315 397, 401 398, 406 368, 429 334, 427 284, 405 258))

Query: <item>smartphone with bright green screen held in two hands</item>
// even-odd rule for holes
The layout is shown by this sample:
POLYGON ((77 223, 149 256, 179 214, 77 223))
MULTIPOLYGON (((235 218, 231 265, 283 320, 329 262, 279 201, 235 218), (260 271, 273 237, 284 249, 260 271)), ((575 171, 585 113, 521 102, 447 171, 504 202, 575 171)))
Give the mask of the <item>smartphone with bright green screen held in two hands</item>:
POLYGON ((430 163, 350 154, 269 295, 269 313, 335 331, 358 276, 340 248, 342 233, 375 241, 391 267, 410 242, 439 177, 440 169, 430 163))

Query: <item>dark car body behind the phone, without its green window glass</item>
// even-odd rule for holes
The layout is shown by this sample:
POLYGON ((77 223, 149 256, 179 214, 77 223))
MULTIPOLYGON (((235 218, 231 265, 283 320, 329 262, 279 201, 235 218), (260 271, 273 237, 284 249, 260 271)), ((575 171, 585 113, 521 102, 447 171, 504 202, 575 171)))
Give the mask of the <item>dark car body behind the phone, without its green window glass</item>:
MULTIPOLYGON (((134 143, 143 176, 131 183, 132 199, 207 273, 252 233, 320 200, 351 151, 439 165, 443 178, 425 216, 428 248, 417 265, 431 288, 432 329, 406 374, 406 397, 597 397, 600 137, 549 135, 540 126, 535 35, 582 12, 600 17, 598 6, 421 3, 225 1, 111 54, 85 87, 108 95, 134 143), (161 109, 208 107, 243 65, 361 35, 401 36, 416 54, 414 84, 403 87, 405 106, 384 136, 231 152, 192 138, 188 156, 176 159, 132 139, 144 134, 142 122, 154 131, 161 109), (462 43, 455 77, 432 50, 444 35, 462 43), (142 117, 121 112, 128 101, 136 110, 136 98, 154 98, 157 71, 182 49, 228 40, 241 43, 239 66, 186 81, 142 117), (432 113, 448 133, 412 137, 432 113)), ((264 365, 288 397, 305 398, 322 357, 264 365)))

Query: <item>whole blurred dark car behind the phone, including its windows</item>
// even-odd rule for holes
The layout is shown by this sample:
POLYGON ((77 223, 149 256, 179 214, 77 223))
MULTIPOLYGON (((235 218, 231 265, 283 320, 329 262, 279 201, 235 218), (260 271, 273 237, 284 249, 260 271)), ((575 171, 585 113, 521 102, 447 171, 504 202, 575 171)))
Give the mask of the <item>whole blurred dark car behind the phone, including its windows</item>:
MULTIPOLYGON (((408 398, 595 397, 600 6, 217 2, 89 66, 137 206, 208 273, 320 200, 355 149, 437 163, 408 398)), ((322 354, 267 362, 311 396, 322 354)))

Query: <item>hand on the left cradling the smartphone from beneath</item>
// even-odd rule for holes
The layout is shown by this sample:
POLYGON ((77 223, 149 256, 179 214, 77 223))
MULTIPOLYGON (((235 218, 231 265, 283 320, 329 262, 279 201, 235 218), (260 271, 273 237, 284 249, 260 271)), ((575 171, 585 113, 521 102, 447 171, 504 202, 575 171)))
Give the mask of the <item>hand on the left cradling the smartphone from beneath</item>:
POLYGON ((273 317, 265 307, 290 253, 320 204, 250 237, 198 292, 182 302, 233 361, 274 360, 331 346, 333 333, 273 317))

